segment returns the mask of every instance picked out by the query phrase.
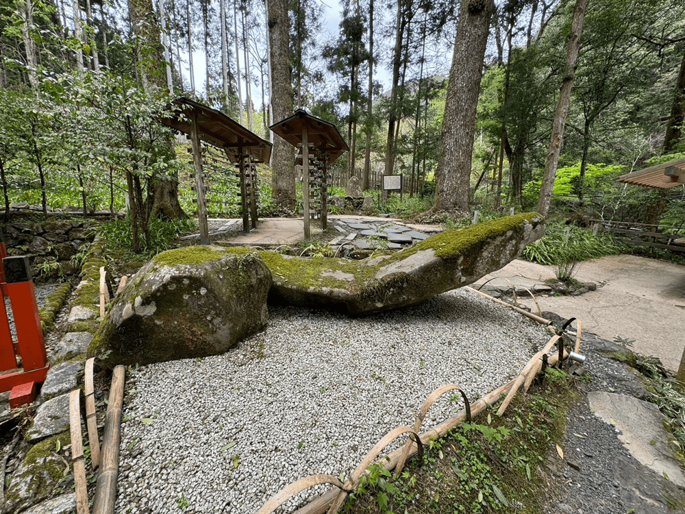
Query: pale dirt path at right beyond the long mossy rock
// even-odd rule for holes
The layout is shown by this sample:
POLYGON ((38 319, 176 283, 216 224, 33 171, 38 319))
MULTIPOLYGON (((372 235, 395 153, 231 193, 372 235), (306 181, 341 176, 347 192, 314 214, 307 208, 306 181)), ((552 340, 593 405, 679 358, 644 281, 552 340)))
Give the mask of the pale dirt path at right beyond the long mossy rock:
MULTIPOLYGON (((555 278, 554 271, 553 266, 514 260, 477 284, 498 277, 531 287, 555 278)), ((580 263, 575 278, 595 282, 597 291, 581 296, 540 295, 540 308, 580 318, 584 330, 609 341, 616 336, 634 339, 635 352, 656 356, 665 367, 677 370, 685 344, 685 266, 631 255, 609 256, 580 263)), ((530 297, 521 296, 519 301, 536 310, 530 297)))

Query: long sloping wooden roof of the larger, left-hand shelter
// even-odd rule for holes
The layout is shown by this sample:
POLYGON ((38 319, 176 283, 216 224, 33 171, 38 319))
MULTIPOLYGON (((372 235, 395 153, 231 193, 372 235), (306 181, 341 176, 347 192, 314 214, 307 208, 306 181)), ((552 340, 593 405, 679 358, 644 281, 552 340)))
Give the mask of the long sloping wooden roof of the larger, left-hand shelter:
POLYGON ((243 151, 250 154, 253 160, 269 162, 271 143, 247 130, 223 112, 203 106, 188 97, 178 97, 173 103, 177 114, 175 117, 161 119, 164 125, 184 134, 190 134, 190 120, 192 114, 195 114, 201 140, 215 147, 236 150, 238 143, 242 141, 243 151))

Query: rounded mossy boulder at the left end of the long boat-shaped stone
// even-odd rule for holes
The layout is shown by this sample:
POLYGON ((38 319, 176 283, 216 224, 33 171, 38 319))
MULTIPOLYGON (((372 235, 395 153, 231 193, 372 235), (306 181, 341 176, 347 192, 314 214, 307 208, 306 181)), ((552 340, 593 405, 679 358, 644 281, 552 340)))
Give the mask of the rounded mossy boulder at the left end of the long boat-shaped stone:
POLYGON ((88 355, 112 366, 221 354, 266 326, 270 286, 247 248, 163 252, 116 297, 88 355))

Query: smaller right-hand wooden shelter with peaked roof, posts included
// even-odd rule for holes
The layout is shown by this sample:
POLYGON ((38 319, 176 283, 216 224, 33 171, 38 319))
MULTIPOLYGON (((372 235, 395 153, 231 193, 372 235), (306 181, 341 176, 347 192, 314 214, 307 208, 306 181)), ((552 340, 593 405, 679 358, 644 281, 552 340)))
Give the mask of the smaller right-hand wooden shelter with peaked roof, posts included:
POLYGON ((292 116, 269 128, 299 149, 296 164, 302 171, 303 180, 304 237, 309 239, 310 217, 317 211, 321 215, 321 228, 327 226, 328 169, 338 157, 349 151, 349 147, 340 136, 338 127, 302 109, 295 110, 292 116), (318 209, 312 212, 312 206, 318 209))

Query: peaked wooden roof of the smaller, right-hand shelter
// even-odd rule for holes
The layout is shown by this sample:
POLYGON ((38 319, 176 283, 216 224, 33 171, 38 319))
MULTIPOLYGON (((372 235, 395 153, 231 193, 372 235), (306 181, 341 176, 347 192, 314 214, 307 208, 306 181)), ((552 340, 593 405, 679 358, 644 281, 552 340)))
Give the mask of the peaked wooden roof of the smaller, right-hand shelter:
POLYGON ((325 147, 328 162, 333 164, 338 157, 349 151, 349 147, 343 136, 340 136, 338 127, 333 123, 328 123, 321 118, 312 116, 303 109, 295 110, 292 116, 274 123, 269 127, 274 134, 284 138, 290 145, 298 147, 302 144, 302 130, 307 127, 310 145, 314 148, 325 147))

